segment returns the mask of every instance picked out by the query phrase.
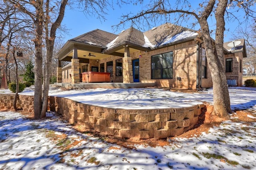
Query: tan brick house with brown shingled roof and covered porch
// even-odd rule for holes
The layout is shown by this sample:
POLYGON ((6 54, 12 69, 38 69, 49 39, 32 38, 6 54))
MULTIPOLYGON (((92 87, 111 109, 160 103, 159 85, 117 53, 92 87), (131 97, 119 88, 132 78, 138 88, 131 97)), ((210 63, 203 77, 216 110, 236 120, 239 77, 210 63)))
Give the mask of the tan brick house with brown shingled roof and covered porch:
MULTIPOLYGON (((83 72, 93 71, 110 73, 114 83, 156 82, 162 87, 182 89, 212 87, 204 43, 198 40, 196 31, 173 24, 147 32, 129 28, 118 35, 93 30, 68 40, 60 49, 56 56, 57 81, 80 83, 83 72), (71 64, 62 68, 60 61, 71 64)), ((227 79, 242 86, 244 39, 224 43, 223 52, 227 79)))

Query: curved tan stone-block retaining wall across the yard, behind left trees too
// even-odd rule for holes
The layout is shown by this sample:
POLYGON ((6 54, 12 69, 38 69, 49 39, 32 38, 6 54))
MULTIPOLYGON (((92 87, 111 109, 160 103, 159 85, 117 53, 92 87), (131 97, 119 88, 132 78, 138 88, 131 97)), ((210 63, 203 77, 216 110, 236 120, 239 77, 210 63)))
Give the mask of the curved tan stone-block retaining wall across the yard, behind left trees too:
MULTIPOLYGON (((18 107, 33 111, 34 96, 19 95, 18 107)), ((1 94, 1 109, 13 109, 14 94, 1 94)), ((62 97, 49 97, 48 109, 90 132, 121 138, 167 138, 190 130, 203 104, 186 108, 127 110, 98 107, 62 97)))

